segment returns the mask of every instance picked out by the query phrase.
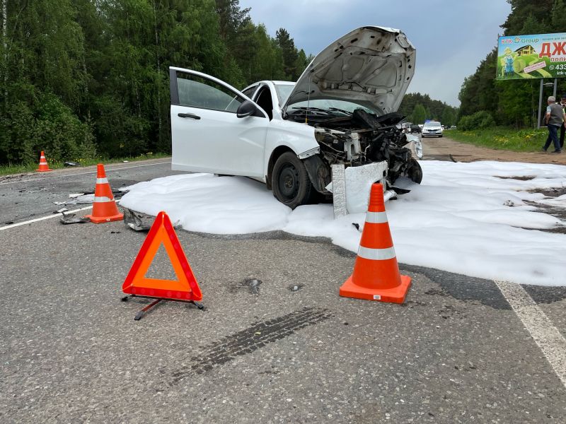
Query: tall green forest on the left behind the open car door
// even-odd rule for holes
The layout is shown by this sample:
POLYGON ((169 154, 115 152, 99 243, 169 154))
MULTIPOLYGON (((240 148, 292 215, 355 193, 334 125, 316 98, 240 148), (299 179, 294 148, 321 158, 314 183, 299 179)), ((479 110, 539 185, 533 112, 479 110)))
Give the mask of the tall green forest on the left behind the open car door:
POLYGON ((239 0, 0 0, 0 165, 171 151, 168 66, 237 88, 311 57, 239 0))

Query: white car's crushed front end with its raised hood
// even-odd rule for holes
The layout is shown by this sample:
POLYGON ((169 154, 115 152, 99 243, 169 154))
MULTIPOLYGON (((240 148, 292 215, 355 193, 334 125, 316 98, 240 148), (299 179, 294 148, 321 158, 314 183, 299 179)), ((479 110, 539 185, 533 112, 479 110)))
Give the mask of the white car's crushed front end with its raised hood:
POLYGON ((317 192, 328 194, 333 165, 386 162, 379 179, 398 193, 406 192, 395 188, 399 177, 421 182, 411 151, 420 142, 408 140, 401 129, 404 117, 396 112, 414 75, 415 55, 400 30, 366 26, 340 37, 307 66, 282 116, 315 128, 318 151, 299 158, 317 192))

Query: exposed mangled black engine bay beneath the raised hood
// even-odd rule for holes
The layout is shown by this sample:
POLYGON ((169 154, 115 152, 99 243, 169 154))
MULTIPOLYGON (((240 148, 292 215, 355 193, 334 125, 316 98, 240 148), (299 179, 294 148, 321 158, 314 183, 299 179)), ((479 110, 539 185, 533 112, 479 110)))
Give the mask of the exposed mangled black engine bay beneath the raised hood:
MULTIPOLYGON (((324 192, 330 182, 330 165, 361 166, 386 160, 386 181, 393 187, 398 177, 419 183, 422 170, 410 148, 410 141, 397 125, 405 118, 399 112, 378 116, 357 108, 353 112, 336 107, 292 107, 286 118, 315 127, 320 153, 304 160, 313 186, 324 192)), ((393 187, 395 188, 395 187, 393 187)))

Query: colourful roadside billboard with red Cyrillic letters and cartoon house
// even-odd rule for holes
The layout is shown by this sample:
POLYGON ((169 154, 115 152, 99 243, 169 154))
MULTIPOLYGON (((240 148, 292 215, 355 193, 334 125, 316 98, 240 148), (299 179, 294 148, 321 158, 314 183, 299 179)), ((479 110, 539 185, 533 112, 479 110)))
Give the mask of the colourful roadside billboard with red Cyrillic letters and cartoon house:
POLYGON ((565 77, 566 33, 499 37, 495 79, 565 77))

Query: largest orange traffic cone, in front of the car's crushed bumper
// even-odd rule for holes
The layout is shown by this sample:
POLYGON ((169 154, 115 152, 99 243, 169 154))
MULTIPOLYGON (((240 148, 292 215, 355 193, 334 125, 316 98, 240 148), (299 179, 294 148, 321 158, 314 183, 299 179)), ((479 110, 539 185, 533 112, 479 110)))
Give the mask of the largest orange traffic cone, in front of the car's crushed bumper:
POLYGON ((411 278, 399 273, 383 201, 383 186, 374 184, 354 272, 340 287, 340 296, 403 303, 410 285, 411 278))

